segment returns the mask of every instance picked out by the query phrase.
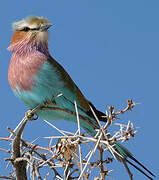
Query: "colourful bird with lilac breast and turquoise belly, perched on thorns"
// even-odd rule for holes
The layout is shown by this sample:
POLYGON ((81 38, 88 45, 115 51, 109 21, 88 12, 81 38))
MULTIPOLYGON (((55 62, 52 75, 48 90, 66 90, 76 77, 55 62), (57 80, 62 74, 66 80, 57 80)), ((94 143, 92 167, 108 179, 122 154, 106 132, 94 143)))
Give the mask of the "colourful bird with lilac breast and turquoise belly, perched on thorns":
MULTIPOLYGON (((105 113, 97 110, 87 100, 65 69, 51 57, 48 48, 48 29, 51 26, 47 18, 39 16, 29 16, 13 23, 13 36, 8 47, 12 51, 8 69, 10 87, 30 109, 39 104, 46 104, 51 108, 52 110, 36 112, 38 117, 49 121, 77 122, 76 102, 80 125, 91 136, 95 136, 99 125, 91 107, 100 121, 107 121, 105 113)), ((155 177, 123 145, 115 142, 114 147, 120 154, 120 157, 116 155, 119 161, 129 163, 148 179, 155 177), (140 168, 128 159, 137 163, 140 168)))

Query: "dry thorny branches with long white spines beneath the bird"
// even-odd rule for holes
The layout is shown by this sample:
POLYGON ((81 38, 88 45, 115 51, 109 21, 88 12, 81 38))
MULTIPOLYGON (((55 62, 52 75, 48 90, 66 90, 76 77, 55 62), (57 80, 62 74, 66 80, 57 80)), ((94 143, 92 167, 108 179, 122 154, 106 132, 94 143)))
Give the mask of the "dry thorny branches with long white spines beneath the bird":
MULTIPOLYGON (((43 105, 38 105, 35 109, 26 112, 25 117, 14 130, 8 128, 11 133, 10 136, 0 137, 1 141, 12 142, 11 150, 10 148, 0 148, 0 151, 11 155, 11 158, 7 158, 6 161, 11 162, 13 166, 13 172, 8 176, 0 176, 0 178, 27 180, 30 175, 31 179, 35 179, 36 177, 39 180, 50 179, 49 177, 59 180, 92 179, 92 172, 95 168, 98 169, 98 177, 96 177, 96 179, 104 180, 106 177, 110 177, 112 170, 109 169, 109 163, 112 163, 113 159, 110 157, 105 159, 103 154, 106 150, 109 150, 115 158, 114 154, 117 152, 113 147, 113 143, 116 141, 127 141, 129 138, 134 137, 136 133, 136 128, 130 121, 127 125, 114 121, 118 119, 120 114, 132 111, 135 105, 136 103, 132 100, 128 100, 127 107, 116 112, 114 106, 110 106, 108 112, 106 112, 107 122, 104 125, 99 122, 92 109, 100 129, 98 129, 95 137, 90 137, 81 133, 80 115, 78 114, 75 102, 77 116, 76 133, 58 129, 52 123, 44 120, 44 122, 55 128, 61 134, 61 136, 45 137, 46 139, 50 139, 48 147, 36 145, 34 144, 35 142, 31 143, 22 138, 22 133, 24 132, 27 121, 37 119, 34 118, 34 114, 36 114, 38 110, 48 110, 49 108, 47 102, 43 105), (110 135, 107 129, 112 125, 118 125, 119 129, 110 135), (12 136, 15 136, 15 138, 12 138, 12 136), (94 145, 90 146, 91 143, 94 145), (97 155, 97 149, 99 150, 99 155, 97 155), (46 167, 48 171, 47 174, 44 175, 44 173, 41 172, 43 168, 46 167), (62 169, 62 171, 60 169, 62 169)), ((132 174, 129 169, 128 172, 130 179, 132 179, 132 174)))

